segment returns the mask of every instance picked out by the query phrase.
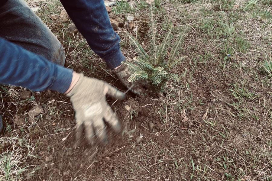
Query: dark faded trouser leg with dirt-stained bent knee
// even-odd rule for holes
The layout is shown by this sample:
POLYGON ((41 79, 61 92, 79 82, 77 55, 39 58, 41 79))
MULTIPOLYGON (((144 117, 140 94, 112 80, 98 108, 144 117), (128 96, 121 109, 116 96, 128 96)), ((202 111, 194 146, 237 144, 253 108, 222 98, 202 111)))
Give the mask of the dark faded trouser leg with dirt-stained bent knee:
POLYGON ((64 65, 62 45, 24 0, 8 0, 0 7, 0 37, 64 65))

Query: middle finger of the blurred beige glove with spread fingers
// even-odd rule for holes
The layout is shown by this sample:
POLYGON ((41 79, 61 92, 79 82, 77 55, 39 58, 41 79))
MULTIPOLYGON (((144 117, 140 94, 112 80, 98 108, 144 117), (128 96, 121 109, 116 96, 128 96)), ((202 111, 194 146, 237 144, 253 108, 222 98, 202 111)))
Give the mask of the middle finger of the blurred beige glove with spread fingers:
POLYGON ((92 123, 93 123, 96 136, 99 138, 99 140, 102 143, 106 144, 108 142, 108 138, 107 138, 103 119, 101 117, 93 118, 92 123))

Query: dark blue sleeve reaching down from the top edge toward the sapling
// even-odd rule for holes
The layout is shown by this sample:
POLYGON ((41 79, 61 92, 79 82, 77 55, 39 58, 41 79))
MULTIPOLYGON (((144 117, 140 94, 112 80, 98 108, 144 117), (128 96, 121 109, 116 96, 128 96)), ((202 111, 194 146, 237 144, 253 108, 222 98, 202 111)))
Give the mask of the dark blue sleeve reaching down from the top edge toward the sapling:
POLYGON ((120 37, 112 29, 103 0, 60 0, 91 49, 111 69, 125 60, 120 50, 120 37))

